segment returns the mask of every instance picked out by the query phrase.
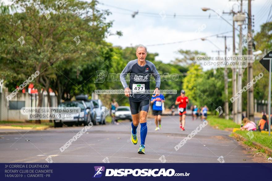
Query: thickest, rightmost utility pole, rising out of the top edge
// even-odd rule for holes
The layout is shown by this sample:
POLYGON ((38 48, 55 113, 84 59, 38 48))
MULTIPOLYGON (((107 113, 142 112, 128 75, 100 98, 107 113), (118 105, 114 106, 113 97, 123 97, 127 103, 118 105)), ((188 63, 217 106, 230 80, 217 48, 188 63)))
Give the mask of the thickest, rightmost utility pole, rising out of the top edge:
MULTIPOLYGON (((248 34, 252 39, 251 32, 251 0, 248 0, 248 34)), ((248 55, 252 55, 252 41, 248 42, 248 55)), ((247 81, 250 82, 253 79, 253 63, 248 63, 248 77, 247 81)), ((253 95, 253 85, 248 89, 247 95, 247 117, 250 121, 254 121, 254 95, 253 95)), ((270 120, 269 120, 270 121, 270 120)))

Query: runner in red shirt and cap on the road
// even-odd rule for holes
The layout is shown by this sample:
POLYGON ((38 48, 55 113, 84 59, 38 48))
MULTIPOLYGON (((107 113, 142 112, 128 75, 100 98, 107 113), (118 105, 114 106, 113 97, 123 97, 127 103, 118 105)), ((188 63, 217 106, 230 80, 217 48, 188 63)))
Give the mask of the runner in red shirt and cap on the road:
POLYGON ((185 91, 181 90, 181 95, 176 98, 176 105, 179 105, 179 115, 180 115, 180 128, 185 130, 185 117, 186 117, 186 108, 189 103, 188 97, 185 96, 185 91))

